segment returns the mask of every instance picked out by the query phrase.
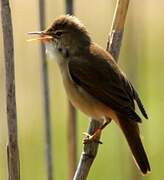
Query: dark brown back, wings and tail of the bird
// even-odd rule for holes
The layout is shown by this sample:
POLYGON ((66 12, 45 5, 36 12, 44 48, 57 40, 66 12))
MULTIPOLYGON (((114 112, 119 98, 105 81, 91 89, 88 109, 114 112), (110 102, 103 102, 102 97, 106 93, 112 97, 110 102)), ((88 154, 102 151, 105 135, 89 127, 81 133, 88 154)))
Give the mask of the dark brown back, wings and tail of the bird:
POLYGON ((119 71, 111 56, 106 52, 102 56, 101 51, 104 50, 100 48, 99 53, 99 47, 93 46, 96 45, 90 47, 92 52, 88 52, 87 58, 70 60, 70 74, 79 86, 117 112, 116 122, 122 129, 140 170, 146 174, 150 171, 150 165, 139 136, 137 122, 141 122, 141 118, 135 113, 134 100, 144 117, 148 118, 146 111, 132 84, 119 71), (94 50, 96 52, 93 52, 94 50))

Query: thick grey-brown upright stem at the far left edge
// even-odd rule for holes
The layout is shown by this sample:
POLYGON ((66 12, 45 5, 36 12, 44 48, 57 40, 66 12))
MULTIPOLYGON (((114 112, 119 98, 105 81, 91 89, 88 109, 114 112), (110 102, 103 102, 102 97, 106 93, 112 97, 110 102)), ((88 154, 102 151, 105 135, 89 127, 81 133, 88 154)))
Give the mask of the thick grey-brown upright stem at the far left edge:
POLYGON ((6 105, 8 124, 8 179, 20 179, 20 161, 17 135, 17 113, 15 97, 13 29, 8 0, 1 0, 1 18, 6 71, 6 105))

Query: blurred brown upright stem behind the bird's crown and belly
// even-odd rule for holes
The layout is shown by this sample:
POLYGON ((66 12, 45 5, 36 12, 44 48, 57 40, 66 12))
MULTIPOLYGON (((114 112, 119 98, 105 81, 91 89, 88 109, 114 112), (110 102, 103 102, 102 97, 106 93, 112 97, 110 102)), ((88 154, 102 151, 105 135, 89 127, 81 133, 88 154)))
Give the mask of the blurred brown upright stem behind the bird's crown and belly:
MULTIPOLYGON (((74 13, 73 0, 66 0, 66 14, 74 13)), ((76 109, 68 102, 68 179, 72 180, 76 171, 77 164, 77 125, 76 125, 76 109)))

